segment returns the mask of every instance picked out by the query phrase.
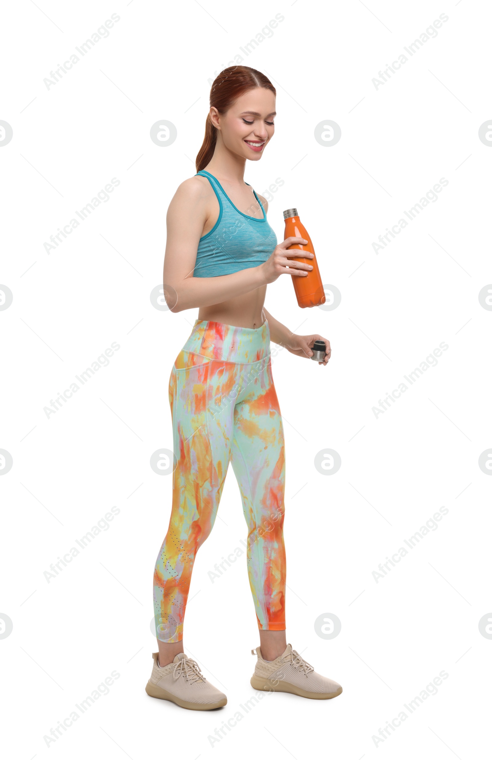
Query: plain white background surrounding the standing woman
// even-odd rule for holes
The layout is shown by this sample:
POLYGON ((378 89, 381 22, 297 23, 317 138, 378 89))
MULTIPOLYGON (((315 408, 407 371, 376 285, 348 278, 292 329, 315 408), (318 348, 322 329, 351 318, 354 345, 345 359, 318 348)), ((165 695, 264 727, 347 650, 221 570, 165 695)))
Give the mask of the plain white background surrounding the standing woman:
MULTIPOLYGON (((492 282, 490 6, 485 2, 358 0, 261 5, 203 0, 5 6, 0 119, 14 136, 2 162, 0 639, 6 756, 16 758, 386 758, 484 756, 490 649, 490 486, 478 467, 490 440, 492 282), (47 89, 43 79, 118 14, 107 39, 47 89), (153 567, 166 534, 171 478, 150 468, 172 448, 167 387, 197 310, 155 309, 166 209, 195 172, 210 83, 240 47, 284 19, 244 64, 277 88, 276 133, 245 179, 284 184, 269 220, 283 237, 295 206, 323 282, 342 293, 329 312, 301 310, 289 277, 267 309, 294 331, 329 337, 323 368, 281 351, 273 375, 285 420, 287 640, 342 683, 330 701, 274 694, 248 714, 259 644, 245 555, 209 571, 246 537, 232 469, 219 518, 200 549, 185 651, 222 688, 222 711, 184 711, 147 697, 156 641, 153 567), (372 79, 440 14, 449 20, 399 71, 372 79), (150 127, 178 137, 158 147, 150 127), (340 125, 338 144, 314 128, 340 125), (115 177, 120 185, 55 250, 43 244, 115 177), (440 178, 438 200, 380 251, 377 241, 440 178), (120 350, 55 414, 58 392, 115 341, 120 350), (449 348, 390 409, 375 416, 441 342, 449 348), (342 466, 314 467, 325 448, 342 466), (43 573, 105 515, 120 514, 55 578, 43 573), (443 505, 448 514, 379 582, 373 571, 443 505), (332 613, 340 634, 320 638, 332 613), (120 677, 49 746, 48 735, 106 676, 120 677), (449 674, 412 714, 403 707, 449 674), (402 710, 407 720, 375 746, 402 710), (216 727, 244 714, 222 739, 216 727)), ((404 217, 405 218, 405 217, 404 217)), ((408 385, 408 383, 407 383, 408 385)), ((70 721, 68 721, 69 723, 70 721)), ((232 721, 234 722, 234 721, 232 721)), ((396 721, 397 722, 397 721, 396 721)))

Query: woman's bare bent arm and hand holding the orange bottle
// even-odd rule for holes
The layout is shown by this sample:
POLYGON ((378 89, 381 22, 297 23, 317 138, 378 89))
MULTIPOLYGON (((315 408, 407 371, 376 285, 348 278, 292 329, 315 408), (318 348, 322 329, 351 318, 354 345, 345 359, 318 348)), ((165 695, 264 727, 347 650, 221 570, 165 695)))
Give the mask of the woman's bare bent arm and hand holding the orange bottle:
MULTIPOLYGON (((214 306, 271 283, 280 274, 305 277, 304 271, 312 269, 311 264, 289 261, 288 257, 298 255, 298 251, 285 249, 293 243, 305 245, 307 242, 291 237, 277 245, 268 261, 257 267, 219 277, 194 277, 198 242, 208 218, 209 201, 210 195, 203 192, 200 180, 192 177, 179 185, 169 204, 163 282, 167 286, 164 288, 166 302, 172 312, 214 306)), ((307 254, 307 258, 310 256, 307 254)))

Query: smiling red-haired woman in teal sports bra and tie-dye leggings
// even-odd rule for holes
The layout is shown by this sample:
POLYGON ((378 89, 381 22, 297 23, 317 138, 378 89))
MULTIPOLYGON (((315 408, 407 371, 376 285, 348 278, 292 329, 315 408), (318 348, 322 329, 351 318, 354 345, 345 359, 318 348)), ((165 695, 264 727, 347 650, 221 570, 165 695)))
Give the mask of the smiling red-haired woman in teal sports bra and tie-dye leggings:
MULTIPOLYGON (((260 71, 226 68, 213 82, 197 174, 179 185, 167 213, 166 300, 199 307, 169 382, 175 470, 172 512, 154 572, 159 652, 147 694, 193 710, 226 705, 183 650, 183 619, 197 550, 210 535, 232 463, 248 524, 248 576, 260 632, 255 689, 327 699, 342 692, 285 639, 285 451, 270 339, 309 358, 314 335, 292 334, 264 309, 267 285, 306 277, 290 237, 277 245, 268 204, 244 182, 273 138, 276 90, 260 71)), ((312 258, 307 254, 306 258, 312 258)), ((212 610, 210 615, 213 615, 212 610)), ((254 654, 254 650, 252 650, 254 654)))

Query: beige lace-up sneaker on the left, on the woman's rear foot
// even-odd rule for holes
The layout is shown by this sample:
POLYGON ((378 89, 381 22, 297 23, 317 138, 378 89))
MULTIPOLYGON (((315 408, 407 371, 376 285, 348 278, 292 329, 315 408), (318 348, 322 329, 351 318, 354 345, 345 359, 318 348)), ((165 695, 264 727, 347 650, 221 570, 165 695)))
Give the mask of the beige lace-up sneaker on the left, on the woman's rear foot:
POLYGON ((152 657, 152 674, 145 687, 150 697, 168 699, 187 710, 215 710, 227 705, 226 695, 212 686, 197 663, 183 652, 164 667, 159 667, 159 652, 152 657))

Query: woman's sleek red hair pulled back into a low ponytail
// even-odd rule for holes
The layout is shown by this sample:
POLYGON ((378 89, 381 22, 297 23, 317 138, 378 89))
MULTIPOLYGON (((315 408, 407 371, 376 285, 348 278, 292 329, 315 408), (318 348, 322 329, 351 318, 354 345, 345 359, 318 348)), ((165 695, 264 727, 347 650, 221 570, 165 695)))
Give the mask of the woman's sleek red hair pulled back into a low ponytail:
MULTIPOLYGON (((276 95, 276 89, 265 74, 249 66, 229 66, 225 68, 213 81, 210 89, 210 106, 214 106, 219 113, 225 113, 232 103, 255 87, 263 87, 271 90, 276 95)), ((217 142, 217 130, 210 119, 210 113, 205 122, 205 138, 203 145, 197 154, 197 172, 204 169, 213 157, 217 142)))

